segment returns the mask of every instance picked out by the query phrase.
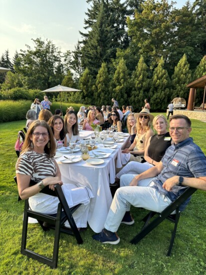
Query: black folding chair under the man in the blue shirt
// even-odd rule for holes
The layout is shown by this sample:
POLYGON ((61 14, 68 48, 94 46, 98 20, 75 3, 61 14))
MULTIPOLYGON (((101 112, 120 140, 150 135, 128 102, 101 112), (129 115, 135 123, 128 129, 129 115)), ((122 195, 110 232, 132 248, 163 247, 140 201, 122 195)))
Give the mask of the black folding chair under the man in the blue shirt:
POLYGON ((180 215, 181 212, 179 210, 180 206, 182 203, 184 203, 190 196, 192 196, 193 193, 196 192, 196 188, 193 187, 188 187, 185 189, 185 191, 174 201, 172 202, 165 210, 163 210, 161 213, 156 213, 151 211, 144 219, 143 221, 145 222, 142 230, 140 231, 140 233, 138 235, 136 235, 131 241, 130 243, 132 244, 137 244, 139 243, 145 236, 147 236, 154 228, 156 228, 160 223, 162 223, 165 219, 168 219, 169 221, 173 222, 174 225, 174 229, 173 229, 173 233, 172 233, 172 237, 171 237, 171 241, 170 241, 170 246, 169 246, 169 250, 167 253, 167 256, 170 256, 171 254, 171 250, 173 247, 173 243, 175 240, 175 235, 176 235, 176 231, 177 231, 177 226, 178 226, 178 222, 180 219, 180 215), (176 214, 172 213, 176 210, 176 214), (150 219, 155 216, 158 215, 157 218, 153 219, 150 222, 150 219))

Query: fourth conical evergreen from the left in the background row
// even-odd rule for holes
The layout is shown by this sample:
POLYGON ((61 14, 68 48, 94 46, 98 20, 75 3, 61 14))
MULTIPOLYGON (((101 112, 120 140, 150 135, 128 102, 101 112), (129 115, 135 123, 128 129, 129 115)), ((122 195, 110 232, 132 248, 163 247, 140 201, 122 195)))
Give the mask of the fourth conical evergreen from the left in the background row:
POLYGON ((132 92, 129 104, 133 105, 135 109, 140 109, 144 99, 148 98, 149 83, 147 65, 144 62, 143 56, 141 56, 131 78, 132 92))

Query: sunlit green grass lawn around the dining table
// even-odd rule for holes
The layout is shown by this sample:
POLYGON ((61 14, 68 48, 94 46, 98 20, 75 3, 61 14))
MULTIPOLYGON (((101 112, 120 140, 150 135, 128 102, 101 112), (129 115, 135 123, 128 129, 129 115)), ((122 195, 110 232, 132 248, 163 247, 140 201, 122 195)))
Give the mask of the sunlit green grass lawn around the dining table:
MULTIPOLYGON (((17 202, 13 181, 17 160, 14 144, 25 120, 0 124, 0 275, 204 275, 206 274, 206 192, 197 191, 182 213, 171 257, 166 257, 173 224, 164 221, 138 245, 130 240, 140 231, 147 211, 132 208, 134 226, 121 225, 121 242, 102 245, 93 232, 81 233, 84 243, 61 234, 56 270, 20 254, 24 202, 17 202)), ((191 136, 206 154, 206 123, 192 120, 191 136)), ((47 257, 54 232, 29 225, 28 246, 47 257)))

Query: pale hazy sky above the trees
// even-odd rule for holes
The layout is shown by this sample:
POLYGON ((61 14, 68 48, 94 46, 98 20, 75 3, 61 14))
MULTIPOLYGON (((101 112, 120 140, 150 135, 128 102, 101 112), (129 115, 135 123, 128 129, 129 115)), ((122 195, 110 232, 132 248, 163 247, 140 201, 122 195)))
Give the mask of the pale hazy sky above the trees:
MULTIPOLYGON (((186 0, 176 2, 181 8, 186 0)), ((0 0, 0 56, 8 49, 12 58, 37 37, 52 40, 62 52, 74 50, 88 7, 86 0, 0 0)))

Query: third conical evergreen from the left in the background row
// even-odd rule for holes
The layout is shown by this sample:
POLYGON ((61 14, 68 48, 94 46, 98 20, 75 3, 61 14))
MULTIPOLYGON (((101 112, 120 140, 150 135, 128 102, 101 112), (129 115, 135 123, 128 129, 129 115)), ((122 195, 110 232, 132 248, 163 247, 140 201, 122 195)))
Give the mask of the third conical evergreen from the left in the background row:
MULTIPOLYGON (((125 105, 128 102, 128 79, 128 70, 125 64, 125 60, 122 58, 122 60, 119 62, 119 65, 117 66, 113 78, 114 89, 112 97, 118 101, 119 106, 125 105)), ((130 95, 129 92, 128 94, 130 95)))

